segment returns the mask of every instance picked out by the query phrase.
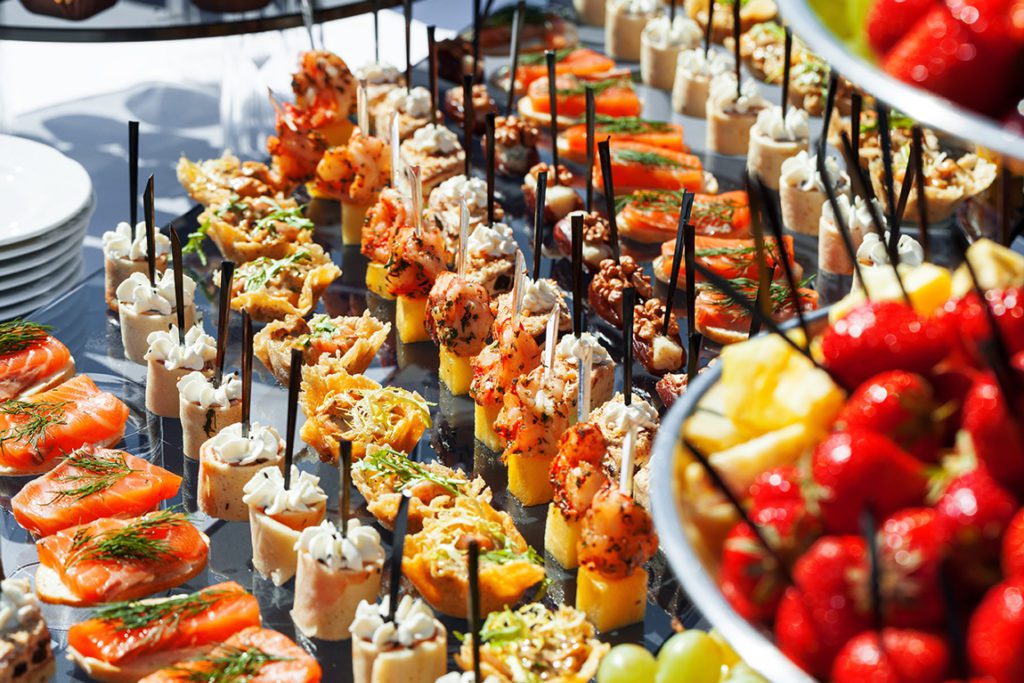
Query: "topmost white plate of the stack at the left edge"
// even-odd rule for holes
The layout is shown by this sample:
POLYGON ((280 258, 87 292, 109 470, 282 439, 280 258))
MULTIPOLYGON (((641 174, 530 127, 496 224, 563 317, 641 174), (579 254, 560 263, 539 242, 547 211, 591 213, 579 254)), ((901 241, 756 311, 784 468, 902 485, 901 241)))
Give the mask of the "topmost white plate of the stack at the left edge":
POLYGON ((82 165, 40 142, 0 135, 0 246, 44 234, 92 197, 82 165))

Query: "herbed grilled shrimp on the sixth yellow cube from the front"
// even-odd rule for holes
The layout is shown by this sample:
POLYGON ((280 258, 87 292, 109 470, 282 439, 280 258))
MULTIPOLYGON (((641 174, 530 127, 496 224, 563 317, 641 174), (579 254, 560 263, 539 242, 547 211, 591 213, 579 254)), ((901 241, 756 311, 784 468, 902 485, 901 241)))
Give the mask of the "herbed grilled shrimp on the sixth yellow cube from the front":
POLYGON ((402 225, 391 240, 391 254, 385 268, 390 294, 426 296, 437 275, 447 269, 444 236, 437 228, 402 225))

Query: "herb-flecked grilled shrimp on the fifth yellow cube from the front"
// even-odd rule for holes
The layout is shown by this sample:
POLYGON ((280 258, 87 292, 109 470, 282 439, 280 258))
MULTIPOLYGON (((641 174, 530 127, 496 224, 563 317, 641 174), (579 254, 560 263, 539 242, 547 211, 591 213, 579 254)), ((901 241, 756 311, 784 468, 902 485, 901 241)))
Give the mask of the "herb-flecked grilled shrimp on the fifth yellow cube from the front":
POLYGON ((454 272, 437 275, 427 311, 431 339, 460 356, 479 353, 495 322, 486 288, 454 272))

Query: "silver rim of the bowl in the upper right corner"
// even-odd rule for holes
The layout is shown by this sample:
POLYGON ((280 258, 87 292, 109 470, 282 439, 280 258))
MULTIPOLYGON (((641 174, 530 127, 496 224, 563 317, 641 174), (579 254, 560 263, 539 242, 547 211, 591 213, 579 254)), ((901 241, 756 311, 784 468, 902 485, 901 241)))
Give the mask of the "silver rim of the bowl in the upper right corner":
POLYGON ((898 81, 850 52, 807 0, 776 0, 779 13, 822 59, 861 88, 941 131, 1024 161, 1024 136, 927 90, 898 81), (883 94, 884 93, 884 94, 883 94))

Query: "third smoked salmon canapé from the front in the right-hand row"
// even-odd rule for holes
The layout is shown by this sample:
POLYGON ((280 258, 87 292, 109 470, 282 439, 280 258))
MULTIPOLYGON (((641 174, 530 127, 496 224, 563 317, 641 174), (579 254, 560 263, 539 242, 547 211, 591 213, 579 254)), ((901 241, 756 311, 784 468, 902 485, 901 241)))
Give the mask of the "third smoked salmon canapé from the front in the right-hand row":
MULTIPOLYGON (((620 234, 647 244, 675 240, 682 201, 683 193, 675 189, 639 189, 618 198, 620 234)), ((750 239, 751 206, 746 193, 695 195, 690 225, 698 236, 750 239)))

